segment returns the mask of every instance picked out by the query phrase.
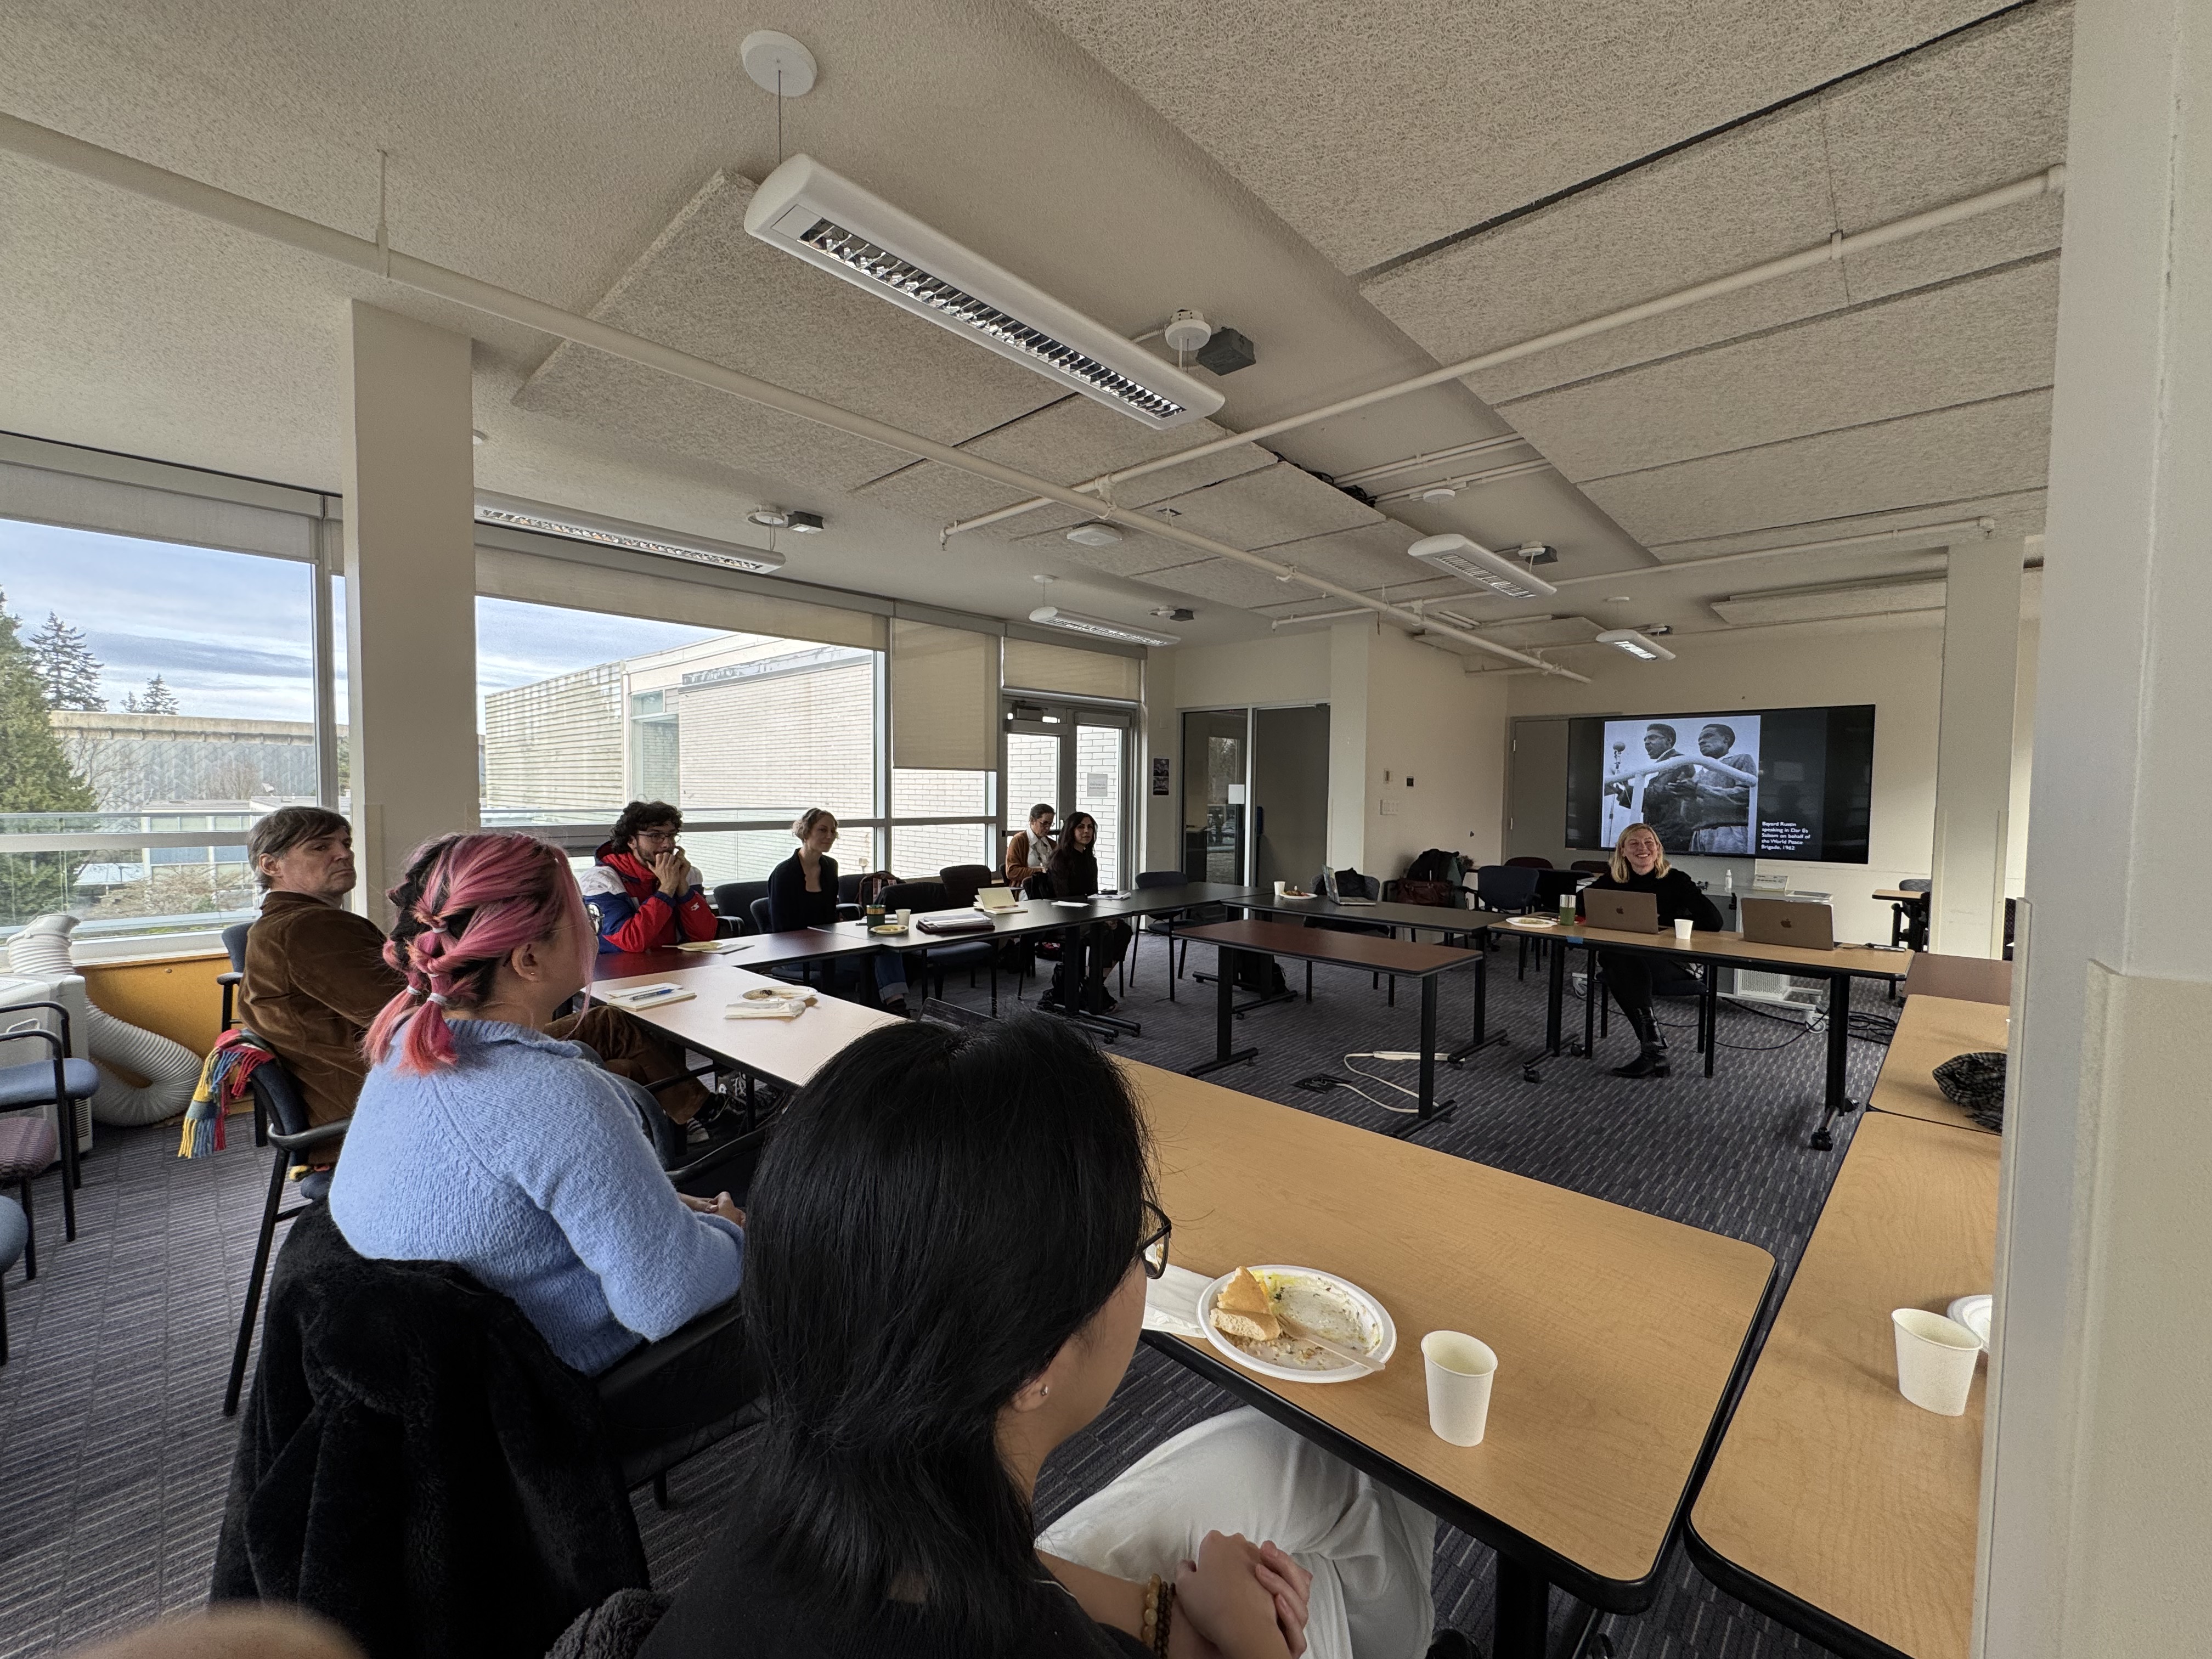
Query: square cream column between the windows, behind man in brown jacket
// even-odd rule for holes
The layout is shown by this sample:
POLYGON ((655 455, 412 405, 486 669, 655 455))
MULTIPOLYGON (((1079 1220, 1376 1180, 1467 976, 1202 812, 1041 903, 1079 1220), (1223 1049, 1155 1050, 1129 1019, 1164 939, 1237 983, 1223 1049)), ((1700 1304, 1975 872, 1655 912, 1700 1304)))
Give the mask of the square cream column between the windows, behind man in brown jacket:
POLYGON ((356 902, 476 830, 469 336, 354 301, 345 361, 345 670, 356 902))

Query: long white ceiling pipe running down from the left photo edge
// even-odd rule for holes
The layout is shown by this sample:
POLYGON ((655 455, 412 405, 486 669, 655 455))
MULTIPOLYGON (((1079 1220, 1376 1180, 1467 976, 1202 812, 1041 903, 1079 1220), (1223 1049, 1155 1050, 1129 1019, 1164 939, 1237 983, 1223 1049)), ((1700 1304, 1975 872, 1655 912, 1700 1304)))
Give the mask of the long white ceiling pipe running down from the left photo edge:
MULTIPOLYGON (((201 184, 199 179, 188 179, 181 173, 170 173, 168 168, 157 168, 150 161, 139 161, 135 157, 122 155, 119 150, 108 150, 97 144, 86 144, 84 139, 69 137, 66 133, 55 133, 49 126, 38 126, 35 122, 24 122, 15 115, 0 113, 0 150, 11 150, 31 161, 42 161, 44 166, 60 168, 64 173, 75 173, 77 177, 95 179, 108 184, 117 190, 128 190, 133 195, 146 197, 150 201, 161 201, 173 208, 184 208, 186 212, 197 212, 204 219, 215 219, 217 223, 232 226, 237 230, 248 230, 257 237, 285 243, 288 248, 299 248, 323 259, 332 259, 341 265, 352 265, 376 276, 403 283, 407 288, 420 290, 425 294, 436 294, 438 299, 453 301, 456 305, 467 305, 469 310, 484 312, 487 316, 500 316, 509 323, 520 323, 524 327, 540 330, 542 334, 553 334, 555 338, 575 341, 577 345, 588 345, 608 356, 624 358, 628 363, 641 363, 644 367, 659 369, 664 374, 675 374, 684 380, 695 380, 697 385, 712 387, 717 392, 728 392, 732 396, 745 398, 748 403, 759 403, 770 409, 783 409, 801 420, 814 420, 823 427, 834 427, 836 431, 849 431, 856 438, 867 438, 880 442, 887 449, 902 449, 909 456, 920 456, 922 460, 936 460, 945 467, 956 467, 958 471, 975 473, 978 478, 989 478, 1013 489, 1040 491, 1044 500, 1066 502, 1068 507, 1079 507, 1093 518, 1115 520, 1130 529, 1148 531, 1161 535, 1170 542, 1181 542, 1183 546, 1194 546, 1201 553, 1214 557, 1234 560, 1239 564, 1250 564, 1256 571, 1265 571, 1283 582, 1301 582, 1316 593, 1325 593, 1332 599, 1345 599, 1365 611, 1389 617, 1400 624, 1420 624, 1411 611, 1400 611, 1398 606, 1380 604, 1369 599, 1365 593, 1340 586, 1336 582, 1325 582, 1316 575, 1305 575, 1303 571, 1279 564, 1276 560, 1250 553, 1241 546, 1230 546, 1228 542, 1217 542, 1210 535, 1199 535, 1197 531, 1186 531, 1175 524, 1161 524, 1157 520, 1139 518, 1115 507, 1102 507, 1099 502, 1077 495, 1073 489, 1062 489, 1051 480, 1035 478, 1031 473, 1018 471, 1013 467, 1002 467, 995 460, 984 460, 982 456, 971 456, 951 445, 940 445, 931 438, 922 438, 911 431, 902 431, 885 420, 872 420, 869 416, 841 409, 834 403, 823 403, 821 398, 810 398, 803 392, 790 392, 787 387, 772 385, 768 380, 757 380, 750 374, 739 374, 737 369, 723 367, 721 363, 710 363, 690 352, 677 352, 675 347, 648 341, 639 334, 626 334, 619 327, 608 327, 588 316, 577 316, 575 312, 564 312, 557 305, 546 305, 529 294, 518 294, 509 288, 498 288, 495 283, 478 281, 476 276, 465 276, 458 270, 447 270, 445 265, 434 265, 427 259, 414 259, 392 248, 389 239, 378 226, 376 241, 365 237, 354 237, 343 230, 332 230, 330 226, 319 226, 312 219, 301 219, 299 215, 283 212, 281 208, 270 208, 261 201, 252 201, 230 190, 219 190, 212 184, 201 184)), ((1571 679, 1584 679, 1584 675, 1573 675, 1566 668, 1551 668, 1548 664, 1537 664, 1535 657, 1522 657, 1517 650, 1506 650, 1489 639, 1475 639, 1473 635, 1455 635, 1467 644, 1489 650, 1500 657, 1511 657, 1517 664, 1546 668, 1571 679)))

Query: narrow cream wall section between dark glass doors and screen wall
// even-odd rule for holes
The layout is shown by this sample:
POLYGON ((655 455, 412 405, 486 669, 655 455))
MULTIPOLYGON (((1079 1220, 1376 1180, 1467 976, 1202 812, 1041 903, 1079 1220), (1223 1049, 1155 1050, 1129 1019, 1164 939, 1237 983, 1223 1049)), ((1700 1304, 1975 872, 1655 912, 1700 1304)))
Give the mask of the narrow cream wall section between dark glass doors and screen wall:
POLYGON ((1478 865, 1498 863, 1506 677, 1469 675, 1464 657, 1389 626, 1345 626, 1369 630, 1360 869, 1402 876, 1429 847, 1478 865))

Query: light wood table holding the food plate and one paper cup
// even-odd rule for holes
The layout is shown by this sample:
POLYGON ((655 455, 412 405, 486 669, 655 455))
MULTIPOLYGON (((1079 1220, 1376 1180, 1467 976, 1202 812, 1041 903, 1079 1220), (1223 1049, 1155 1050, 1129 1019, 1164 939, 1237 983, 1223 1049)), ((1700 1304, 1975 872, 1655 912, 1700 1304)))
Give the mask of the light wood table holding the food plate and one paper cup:
MULTIPOLYGON (((1170 1254, 1340 1272, 1398 1325, 1374 1378, 1274 1383, 1148 1343, 1498 1551, 1493 1659, 1544 1652, 1551 1586, 1657 1595, 1774 1261, 1759 1248, 1349 1124, 1121 1062, 1152 1124, 1170 1254), (1480 1447, 1429 1431, 1420 1338, 1498 1349, 1480 1447)), ((1955 1137, 1964 1141, 1966 1137, 1955 1137)))

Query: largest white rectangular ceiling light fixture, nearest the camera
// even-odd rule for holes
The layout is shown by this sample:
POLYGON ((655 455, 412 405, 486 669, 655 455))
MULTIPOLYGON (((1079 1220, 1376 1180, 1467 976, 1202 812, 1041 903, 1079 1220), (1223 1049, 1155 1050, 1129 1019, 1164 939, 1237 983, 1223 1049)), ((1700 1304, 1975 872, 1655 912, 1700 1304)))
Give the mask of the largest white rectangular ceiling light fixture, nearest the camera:
POLYGON ((1181 427, 1221 407, 1203 380, 810 155, 768 175, 745 208, 745 232, 1148 427, 1181 427))

